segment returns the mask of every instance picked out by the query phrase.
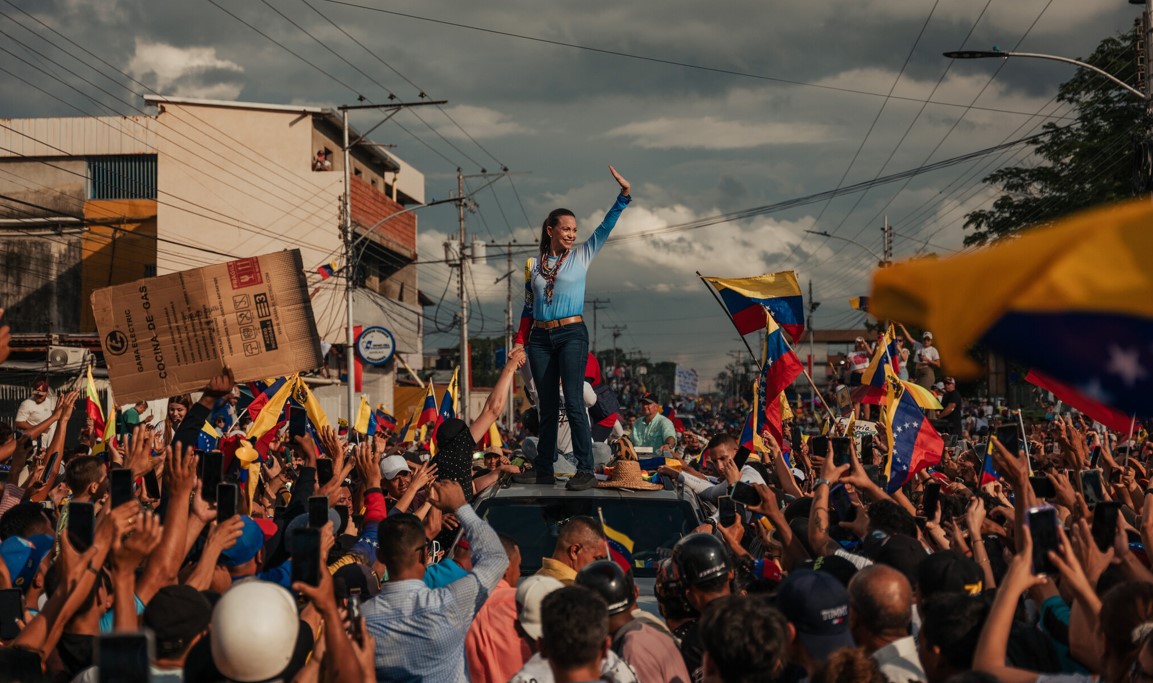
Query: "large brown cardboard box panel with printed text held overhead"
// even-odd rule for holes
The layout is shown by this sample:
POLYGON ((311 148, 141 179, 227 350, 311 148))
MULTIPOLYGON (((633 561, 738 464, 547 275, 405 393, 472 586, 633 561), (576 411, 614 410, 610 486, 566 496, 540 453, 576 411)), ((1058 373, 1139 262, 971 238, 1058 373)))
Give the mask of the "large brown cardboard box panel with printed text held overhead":
POLYGON ((195 391, 224 366, 248 382, 322 361, 299 249, 97 290, 92 313, 120 404, 195 391))

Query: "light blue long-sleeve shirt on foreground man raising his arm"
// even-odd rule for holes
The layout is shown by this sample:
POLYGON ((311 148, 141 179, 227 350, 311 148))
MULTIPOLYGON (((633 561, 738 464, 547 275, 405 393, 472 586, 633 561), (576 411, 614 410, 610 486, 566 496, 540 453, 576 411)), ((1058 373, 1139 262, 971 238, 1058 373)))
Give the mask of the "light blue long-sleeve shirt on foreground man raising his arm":
POLYGON ((401 683, 466 683, 465 636, 492 588, 508 568, 508 556, 492 527, 461 505, 457 519, 473 549, 473 571, 442 588, 419 579, 387 581, 364 602, 368 631, 376 639, 376 676, 401 683))

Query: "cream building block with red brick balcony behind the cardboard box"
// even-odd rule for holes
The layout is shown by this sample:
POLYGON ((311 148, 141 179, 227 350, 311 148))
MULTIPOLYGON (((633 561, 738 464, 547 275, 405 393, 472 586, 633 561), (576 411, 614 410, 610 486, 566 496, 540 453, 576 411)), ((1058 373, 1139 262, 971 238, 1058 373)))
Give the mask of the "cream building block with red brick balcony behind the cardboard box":
MULTIPOLYGON (((321 267, 346 265, 338 112, 145 100, 153 115, 20 119, 0 127, 0 306, 17 336, 9 369, 50 367, 52 345, 98 351, 93 290, 299 248, 321 338, 332 345, 314 380, 317 395, 331 414, 346 414, 337 384, 344 276, 351 273, 355 323, 382 325, 397 340, 400 362, 363 371, 363 391, 391 407, 397 368, 421 365, 423 323, 413 265, 416 217, 389 217, 423 204, 424 177, 368 140, 354 145, 351 216, 366 239, 353 268, 325 278, 321 267)), ((359 137, 352 132, 351 140, 359 137)))

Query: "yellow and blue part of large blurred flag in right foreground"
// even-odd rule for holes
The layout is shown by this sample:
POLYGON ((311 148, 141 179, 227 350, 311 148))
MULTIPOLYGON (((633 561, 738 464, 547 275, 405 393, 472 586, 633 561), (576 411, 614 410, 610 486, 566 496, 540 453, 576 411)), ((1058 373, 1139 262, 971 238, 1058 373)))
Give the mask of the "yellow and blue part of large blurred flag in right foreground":
POLYGON ((873 276, 873 314, 932 329, 956 375, 978 344, 1129 415, 1153 414, 1153 203, 1093 209, 987 249, 873 276))

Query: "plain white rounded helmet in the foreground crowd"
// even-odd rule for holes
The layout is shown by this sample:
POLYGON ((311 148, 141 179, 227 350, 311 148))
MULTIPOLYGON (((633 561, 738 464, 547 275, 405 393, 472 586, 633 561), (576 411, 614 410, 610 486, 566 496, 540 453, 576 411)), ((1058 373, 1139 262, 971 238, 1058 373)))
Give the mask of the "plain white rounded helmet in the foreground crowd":
POLYGON ((212 661, 233 681, 264 681, 288 667, 300 617, 292 594, 267 581, 229 588, 212 610, 212 661))

